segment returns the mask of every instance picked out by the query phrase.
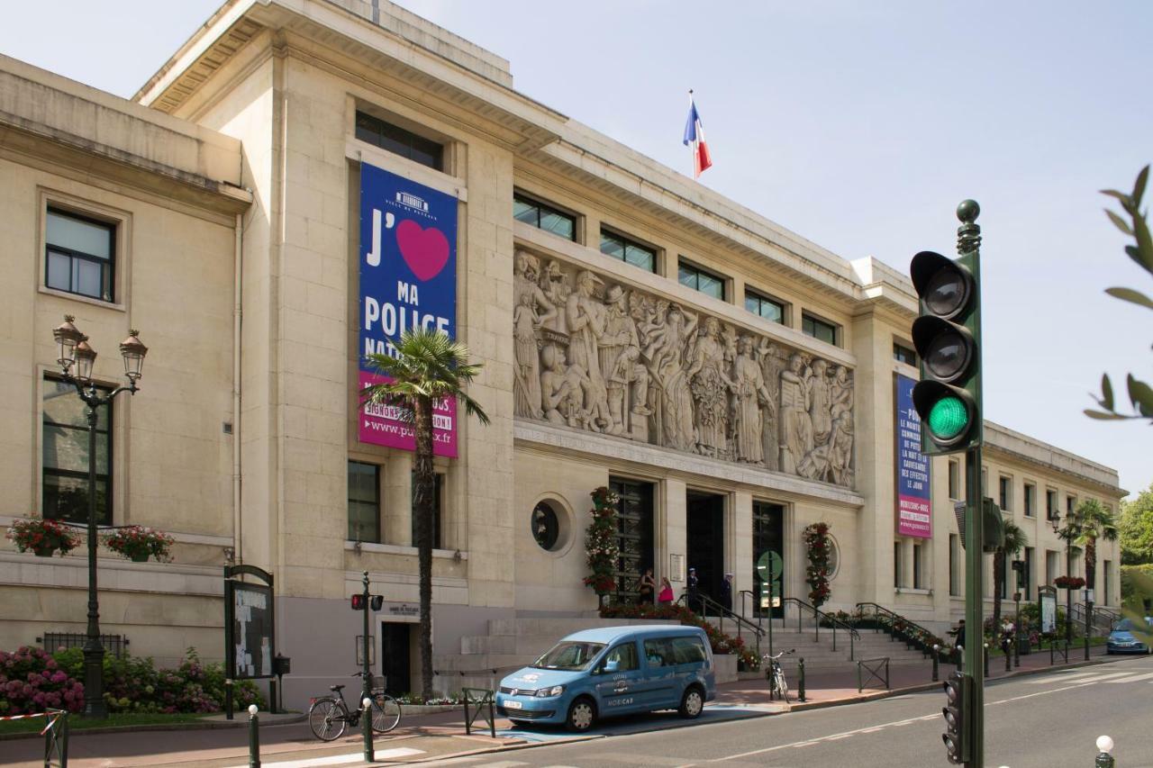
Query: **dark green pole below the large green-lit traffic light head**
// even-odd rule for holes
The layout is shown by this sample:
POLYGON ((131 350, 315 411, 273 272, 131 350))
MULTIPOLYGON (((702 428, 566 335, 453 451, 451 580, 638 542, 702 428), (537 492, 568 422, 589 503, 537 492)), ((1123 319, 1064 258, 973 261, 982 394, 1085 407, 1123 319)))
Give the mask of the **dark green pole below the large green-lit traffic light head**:
POLYGON ((965 672, 973 678, 969 688, 970 768, 985 765, 985 558, 982 552, 984 514, 981 499, 981 449, 965 452, 965 672))

